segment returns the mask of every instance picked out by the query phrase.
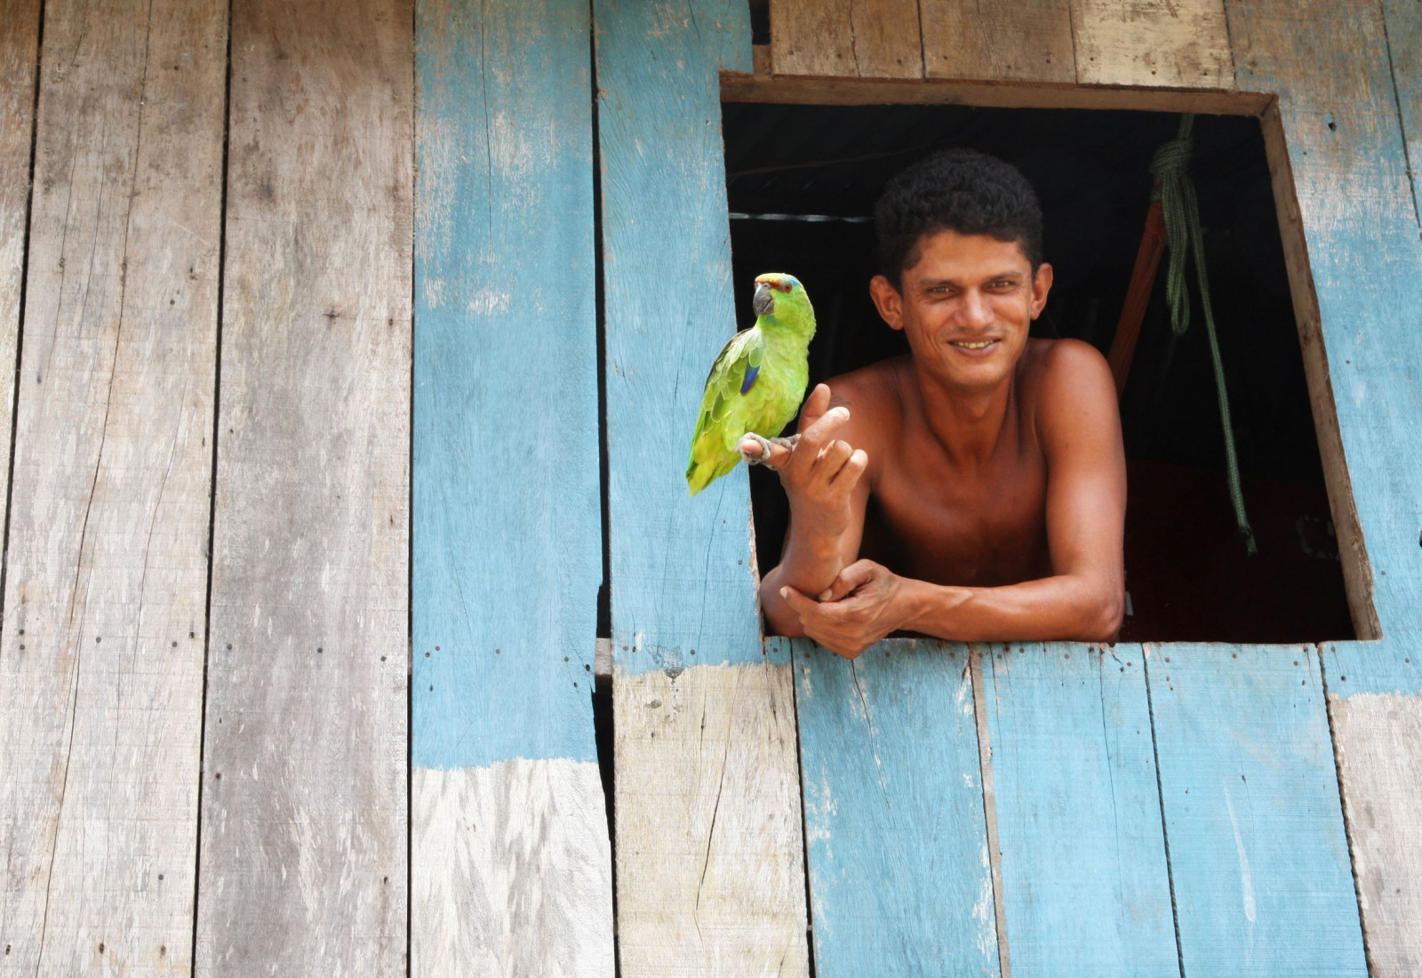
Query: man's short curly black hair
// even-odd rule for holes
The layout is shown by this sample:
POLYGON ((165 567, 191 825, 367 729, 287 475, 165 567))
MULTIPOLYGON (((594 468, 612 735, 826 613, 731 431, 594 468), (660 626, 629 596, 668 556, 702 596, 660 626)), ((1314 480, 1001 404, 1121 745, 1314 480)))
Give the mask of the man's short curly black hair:
POLYGON ((879 267, 900 289, 904 269, 919 263, 919 239, 940 230, 1017 242, 1042 263, 1042 208, 1011 163, 975 149, 947 149, 919 161, 884 186, 875 205, 879 267))

